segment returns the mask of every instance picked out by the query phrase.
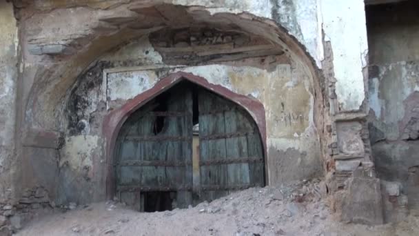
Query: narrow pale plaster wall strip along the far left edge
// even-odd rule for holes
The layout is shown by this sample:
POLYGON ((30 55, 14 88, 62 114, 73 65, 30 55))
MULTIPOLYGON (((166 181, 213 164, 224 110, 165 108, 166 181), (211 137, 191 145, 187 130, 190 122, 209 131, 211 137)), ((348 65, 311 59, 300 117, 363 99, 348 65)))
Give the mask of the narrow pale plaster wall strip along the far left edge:
POLYGON ((12 190, 17 78, 17 26, 11 3, 0 2, 0 201, 12 190))

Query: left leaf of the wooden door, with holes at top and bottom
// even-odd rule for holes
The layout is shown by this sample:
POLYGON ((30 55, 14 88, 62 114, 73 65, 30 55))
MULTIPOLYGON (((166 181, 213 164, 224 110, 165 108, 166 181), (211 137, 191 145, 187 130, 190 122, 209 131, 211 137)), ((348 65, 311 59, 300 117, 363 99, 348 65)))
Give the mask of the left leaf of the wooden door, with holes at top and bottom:
POLYGON ((117 140, 116 191, 137 210, 147 193, 170 192, 180 208, 192 204, 192 93, 166 94, 130 115, 117 140))

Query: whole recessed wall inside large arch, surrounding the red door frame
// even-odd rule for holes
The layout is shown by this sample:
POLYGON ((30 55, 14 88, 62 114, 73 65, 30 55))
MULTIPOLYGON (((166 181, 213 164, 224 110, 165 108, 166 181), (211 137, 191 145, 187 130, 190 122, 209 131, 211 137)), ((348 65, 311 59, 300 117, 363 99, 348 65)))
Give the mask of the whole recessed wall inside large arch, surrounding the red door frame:
MULTIPOLYGON (((229 32, 214 32, 207 28, 194 31, 195 35, 198 33, 203 37, 201 41, 206 43, 194 46, 192 55, 188 55, 191 52, 190 29, 178 30, 174 38, 165 38, 164 41, 150 36, 154 45, 148 36, 127 43, 101 57, 81 75, 65 108, 69 123, 60 168, 61 173, 68 174, 59 178, 59 202, 89 201, 89 193, 78 196, 71 193, 93 189, 92 186, 105 177, 101 173, 105 138, 101 137, 101 128, 105 126, 105 115, 152 89, 160 79, 174 72, 205 78, 214 86, 222 86, 263 104, 269 184, 321 175, 320 147, 312 116, 314 88, 309 75, 282 50, 269 50, 272 45, 263 44, 261 39, 256 40, 256 45, 252 40, 244 42, 247 45, 238 45, 235 40, 243 43, 243 38, 249 36, 238 34, 241 36, 233 37, 229 32), (181 38, 179 35, 186 37, 187 41, 176 41, 181 38), (230 45, 235 46, 229 48, 230 45), (205 49, 202 54, 200 47, 205 49), (179 66, 176 58, 184 64, 198 66, 179 66), (78 140, 87 145, 81 146, 78 140), (85 161, 76 161, 80 159, 85 161), (66 181, 70 175, 79 180, 66 181)), ((173 34, 165 32, 163 35, 173 34)))

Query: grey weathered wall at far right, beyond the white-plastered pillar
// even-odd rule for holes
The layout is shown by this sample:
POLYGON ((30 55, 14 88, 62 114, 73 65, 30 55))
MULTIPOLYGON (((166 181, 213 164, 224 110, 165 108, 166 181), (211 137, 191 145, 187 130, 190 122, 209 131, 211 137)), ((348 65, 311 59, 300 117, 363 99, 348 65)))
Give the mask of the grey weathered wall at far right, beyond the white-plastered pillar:
POLYGON ((418 7, 407 1, 367 8, 369 130, 377 174, 388 189, 385 199, 397 199, 386 206, 389 220, 400 220, 406 208, 419 210, 418 7))

